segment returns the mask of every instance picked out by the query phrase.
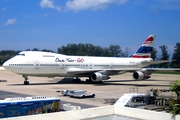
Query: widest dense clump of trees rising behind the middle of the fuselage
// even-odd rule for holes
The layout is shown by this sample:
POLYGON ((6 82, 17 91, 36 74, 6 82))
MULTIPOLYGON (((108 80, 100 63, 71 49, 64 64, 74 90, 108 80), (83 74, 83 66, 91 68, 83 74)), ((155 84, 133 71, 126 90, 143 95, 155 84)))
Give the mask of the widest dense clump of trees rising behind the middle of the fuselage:
POLYGON ((118 45, 101 47, 89 43, 68 44, 67 46, 61 46, 58 48, 58 53, 66 55, 120 57, 121 52, 121 47, 118 45))

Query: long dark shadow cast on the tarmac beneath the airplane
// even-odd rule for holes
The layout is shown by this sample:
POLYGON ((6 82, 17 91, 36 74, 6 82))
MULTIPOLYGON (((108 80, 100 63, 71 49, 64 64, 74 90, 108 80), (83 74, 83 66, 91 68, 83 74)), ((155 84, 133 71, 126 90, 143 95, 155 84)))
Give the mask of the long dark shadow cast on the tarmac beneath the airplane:
MULTIPOLYGON (((123 86, 136 86, 136 87, 143 87, 143 86, 164 86, 167 87, 169 85, 160 85, 160 84, 150 84, 148 83, 149 81, 151 82, 156 82, 156 81, 165 81, 165 80, 154 80, 154 79, 149 79, 149 80, 143 80, 143 83, 141 81, 137 80, 108 80, 108 81, 103 81, 103 82, 86 82, 86 81, 79 81, 79 82, 73 82, 72 78, 54 78, 50 80, 50 82, 46 83, 31 83, 29 85, 57 85, 57 84, 84 84, 84 85, 89 85, 92 84, 94 86, 107 86, 107 85, 123 85, 123 86), (53 82, 52 82, 53 81, 53 82), (147 81, 147 83, 145 83, 147 81)), ((8 84, 8 86, 22 86, 22 84, 8 84)), ((27 86, 29 86, 27 85, 27 86)))

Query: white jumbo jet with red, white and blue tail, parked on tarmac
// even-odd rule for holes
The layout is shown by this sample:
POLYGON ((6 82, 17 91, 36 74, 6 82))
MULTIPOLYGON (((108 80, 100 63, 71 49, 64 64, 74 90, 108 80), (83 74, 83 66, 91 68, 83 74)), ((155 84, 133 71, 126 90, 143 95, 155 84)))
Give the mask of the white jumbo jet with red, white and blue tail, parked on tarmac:
POLYGON ((28 76, 38 77, 88 77, 87 81, 101 82, 112 75, 133 72, 134 80, 144 80, 158 68, 144 68, 151 64, 169 61, 153 61, 151 51, 155 41, 151 34, 130 58, 68 56, 40 51, 23 51, 3 64, 9 71, 24 77, 28 85, 28 76))

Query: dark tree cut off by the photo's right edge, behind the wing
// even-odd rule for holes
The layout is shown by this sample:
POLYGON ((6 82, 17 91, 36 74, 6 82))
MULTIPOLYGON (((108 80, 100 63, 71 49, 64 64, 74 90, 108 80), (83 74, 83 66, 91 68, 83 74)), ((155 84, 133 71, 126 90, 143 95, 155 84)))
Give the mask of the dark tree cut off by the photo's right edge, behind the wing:
POLYGON ((171 67, 180 68, 180 42, 176 43, 172 60, 174 61, 171 62, 171 67))

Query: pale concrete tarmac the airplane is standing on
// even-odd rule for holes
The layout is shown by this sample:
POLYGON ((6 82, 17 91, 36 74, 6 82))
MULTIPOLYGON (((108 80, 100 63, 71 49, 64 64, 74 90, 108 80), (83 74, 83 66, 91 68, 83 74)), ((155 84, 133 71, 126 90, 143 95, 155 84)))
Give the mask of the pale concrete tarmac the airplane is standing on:
POLYGON ((86 78, 82 81, 73 83, 70 78, 47 78, 29 76, 30 85, 24 85, 24 78, 21 75, 1 70, 0 80, 0 99, 7 97, 26 97, 26 96, 54 96, 60 97, 62 101, 87 106, 105 106, 105 99, 117 99, 124 93, 129 93, 130 88, 138 88, 139 93, 147 93, 147 90, 168 89, 169 83, 180 79, 180 75, 152 74, 148 80, 135 81, 132 73, 111 76, 110 80, 103 81, 102 84, 86 83, 86 78), (86 90, 95 93, 95 98, 77 99, 62 96, 57 90, 86 90))

